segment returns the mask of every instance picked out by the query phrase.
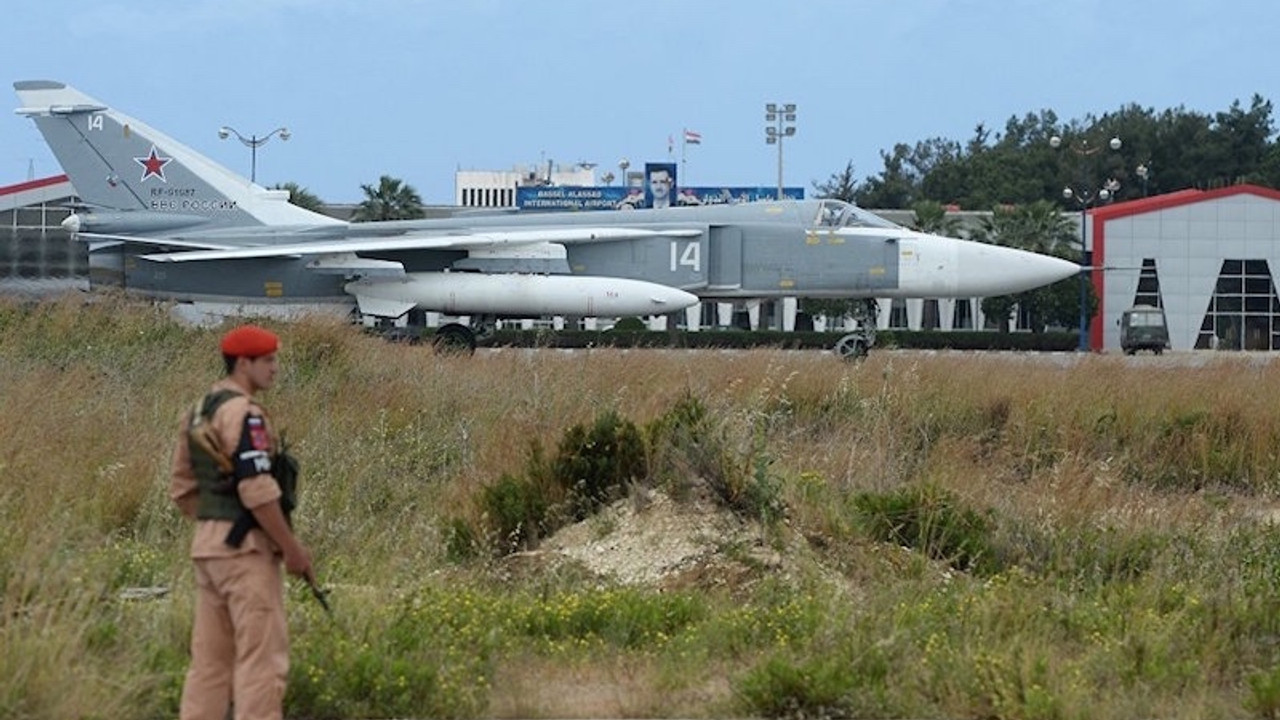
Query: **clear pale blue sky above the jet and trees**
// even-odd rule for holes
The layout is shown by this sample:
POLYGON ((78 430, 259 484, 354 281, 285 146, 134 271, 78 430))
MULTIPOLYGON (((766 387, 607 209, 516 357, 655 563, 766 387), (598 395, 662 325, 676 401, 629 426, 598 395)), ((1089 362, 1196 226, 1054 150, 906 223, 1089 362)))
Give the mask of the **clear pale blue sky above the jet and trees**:
MULTIPOLYGON (((799 106, 785 181, 1050 109, 1217 113, 1275 101, 1280 8, 1194 0, 19 0, 12 82, 58 79, 260 184, 356 201, 390 174, 452 202, 456 169, 678 160, 690 186, 777 182, 764 104, 799 106), (668 156, 668 137, 675 140, 668 156)), ((0 184, 60 172, 0 114, 0 184)))

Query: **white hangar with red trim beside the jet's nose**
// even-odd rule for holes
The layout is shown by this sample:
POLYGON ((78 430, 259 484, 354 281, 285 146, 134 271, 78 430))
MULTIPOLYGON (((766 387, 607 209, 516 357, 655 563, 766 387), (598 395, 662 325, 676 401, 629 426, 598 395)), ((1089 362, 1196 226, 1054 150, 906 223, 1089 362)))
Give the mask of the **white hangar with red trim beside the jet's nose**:
POLYGON ((1134 305, 1164 309, 1174 351, 1280 350, 1280 192, 1183 190, 1096 208, 1088 220, 1092 350, 1120 350, 1120 314, 1134 305))

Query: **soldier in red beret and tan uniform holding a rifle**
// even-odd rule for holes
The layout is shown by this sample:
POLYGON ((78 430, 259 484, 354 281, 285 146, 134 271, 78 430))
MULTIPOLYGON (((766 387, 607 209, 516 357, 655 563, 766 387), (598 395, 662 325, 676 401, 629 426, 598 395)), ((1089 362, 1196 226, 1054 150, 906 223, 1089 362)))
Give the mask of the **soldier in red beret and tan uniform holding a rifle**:
POLYGON ((232 705, 237 720, 283 715, 289 648, 280 557, 291 574, 314 578, 311 553, 287 515, 294 488, 282 469, 293 468, 292 459, 280 455, 253 400, 275 384, 279 347, 274 333, 256 325, 228 332, 227 377, 182 418, 169 496, 196 520, 184 720, 224 720, 232 705))

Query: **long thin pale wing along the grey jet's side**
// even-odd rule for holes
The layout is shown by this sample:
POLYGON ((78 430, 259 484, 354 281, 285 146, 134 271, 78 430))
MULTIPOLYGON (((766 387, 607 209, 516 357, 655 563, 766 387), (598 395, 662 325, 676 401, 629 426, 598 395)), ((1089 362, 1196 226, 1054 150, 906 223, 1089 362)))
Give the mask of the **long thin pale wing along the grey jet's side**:
MULTIPOLYGON (((256 245, 252 247, 192 250, 187 252, 152 252, 141 255, 157 263, 195 263, 211 260, 247 260, 257 258, 298 258, 302 255, 348 255, 358 252, 389 252, 407 250, 493 250, 502 246, 572 242, 609 242, 646 237, 698 237, 696 228, 626 228, 559 227, 545 229, 512 229, 458 233, 403 234, 398 237, 371 237, 291 242, 284 245, 256 245)), ((122 238, 123 240, 123 238, 122 238)))

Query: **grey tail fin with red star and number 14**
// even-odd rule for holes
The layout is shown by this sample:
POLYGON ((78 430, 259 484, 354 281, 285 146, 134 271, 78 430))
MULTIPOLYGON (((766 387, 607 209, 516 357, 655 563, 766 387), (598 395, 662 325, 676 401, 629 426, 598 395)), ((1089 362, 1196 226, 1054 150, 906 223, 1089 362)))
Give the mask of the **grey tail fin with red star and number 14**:
POLYGON ((204 227, 340 224, 65 83, 19 81, 14 91, 22 104, 17 113, 35 120, 90 205, 204 227))

